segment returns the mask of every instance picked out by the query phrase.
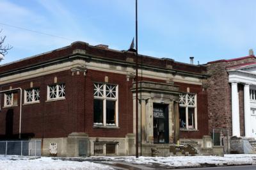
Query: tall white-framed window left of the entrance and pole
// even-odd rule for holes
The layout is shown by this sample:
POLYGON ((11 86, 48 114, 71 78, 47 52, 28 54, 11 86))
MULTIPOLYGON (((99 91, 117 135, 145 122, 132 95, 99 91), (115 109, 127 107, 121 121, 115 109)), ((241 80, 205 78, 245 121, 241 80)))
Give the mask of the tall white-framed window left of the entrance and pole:
POLYGON ((93 87, 94 125, 118 127, 118 86, 95 82, 93 87))

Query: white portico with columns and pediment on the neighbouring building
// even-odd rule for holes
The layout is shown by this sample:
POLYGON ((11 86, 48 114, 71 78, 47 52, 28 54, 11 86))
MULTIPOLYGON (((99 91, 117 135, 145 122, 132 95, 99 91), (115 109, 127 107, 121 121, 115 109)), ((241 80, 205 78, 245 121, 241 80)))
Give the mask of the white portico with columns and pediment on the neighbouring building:
POLYGON ((232 91, 232 135, 241 135, 239 105, 243 105, 245 137, 256 138, 256 64, 227 68, 227 71, 232 91), (238 84, 244 86, 243 103, 239 103, 238 84))

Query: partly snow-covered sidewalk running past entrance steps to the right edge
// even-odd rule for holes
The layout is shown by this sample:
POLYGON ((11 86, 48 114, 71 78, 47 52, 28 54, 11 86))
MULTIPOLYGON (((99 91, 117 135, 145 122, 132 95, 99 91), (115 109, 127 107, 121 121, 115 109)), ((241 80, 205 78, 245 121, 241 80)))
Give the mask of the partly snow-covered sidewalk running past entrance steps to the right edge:
POLYGON ((256 155, 193 156, 193 157, 89 157, 88 161, 107 164, 115 169, 177 169, 191 167, 255 165, 256 155))

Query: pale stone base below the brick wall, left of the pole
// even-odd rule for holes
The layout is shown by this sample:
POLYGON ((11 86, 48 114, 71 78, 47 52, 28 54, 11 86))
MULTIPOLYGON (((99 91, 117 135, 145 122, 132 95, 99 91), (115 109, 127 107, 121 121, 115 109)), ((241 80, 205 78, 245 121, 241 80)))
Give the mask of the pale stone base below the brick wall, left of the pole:
POLYGON ((136 149, 134 134, 127 134, 125 137, 89 137, 83 132, 72 132, 68 137, 36 140, 42 140, 42 156, 47 157, 51 155, 49 150, 51 144, 57 148, 54 153, 56 157, 132 156, 135 155, 136 149), (95 153, 95 144, 103 147, 102 153, 95 153))

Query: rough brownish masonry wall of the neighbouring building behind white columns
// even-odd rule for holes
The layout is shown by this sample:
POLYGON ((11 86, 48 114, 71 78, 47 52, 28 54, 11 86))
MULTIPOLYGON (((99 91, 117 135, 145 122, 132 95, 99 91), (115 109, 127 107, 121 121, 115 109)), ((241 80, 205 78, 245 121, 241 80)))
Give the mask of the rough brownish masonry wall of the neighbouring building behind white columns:
MULTIPOLYGON (((239 65, 256 61, 254 57, 237 59, 232 61, 218 61, 207 64, 207 73, 211 75, 207 81, 209 133, 213 128, 223 128, 230 131, 232 135, 231 114, 231 88, 228 82, 228 66, 239 65)), ((239 111, 241 135, 244 132, 243 120, 243 86, 239 85, 239 111)))

